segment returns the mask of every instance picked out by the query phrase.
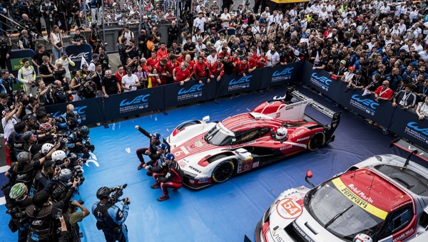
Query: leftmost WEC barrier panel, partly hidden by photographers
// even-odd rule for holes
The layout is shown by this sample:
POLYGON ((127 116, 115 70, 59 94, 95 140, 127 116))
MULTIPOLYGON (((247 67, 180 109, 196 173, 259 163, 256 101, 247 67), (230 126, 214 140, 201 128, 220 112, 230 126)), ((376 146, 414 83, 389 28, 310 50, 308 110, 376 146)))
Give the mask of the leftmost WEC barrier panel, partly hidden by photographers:
POLYGON ((103 98, 91 98, 75 102, 66 102, 46 106, 46 112, 54 117, 59 117, 66 112, 68 104, 74 106, 74 111, 81 117, 81 125, 93 125, 96 122, 104 122, 103 98))

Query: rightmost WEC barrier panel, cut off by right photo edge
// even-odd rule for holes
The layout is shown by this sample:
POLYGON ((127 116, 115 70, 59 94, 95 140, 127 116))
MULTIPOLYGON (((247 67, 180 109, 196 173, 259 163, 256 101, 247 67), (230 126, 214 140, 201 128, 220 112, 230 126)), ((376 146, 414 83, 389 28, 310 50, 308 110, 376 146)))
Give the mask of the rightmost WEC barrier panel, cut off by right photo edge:
POLYGON ((394 111, 389 130, 426 149, 428 147, 427 120, 419 120, 415 113, 399 107, 394 111))

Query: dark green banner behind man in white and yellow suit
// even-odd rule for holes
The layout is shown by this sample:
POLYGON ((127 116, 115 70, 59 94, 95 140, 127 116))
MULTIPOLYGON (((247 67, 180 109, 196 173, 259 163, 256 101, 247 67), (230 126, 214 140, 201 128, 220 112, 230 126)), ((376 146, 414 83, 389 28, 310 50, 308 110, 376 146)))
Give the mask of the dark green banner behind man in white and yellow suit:
MULTIPOLYGON (((34 56, 34 51, 31 49, 26 49, 25 51, 21 50, 15 50, 11 51, 11 54, 9 55, 9 59, 6 60, 7 69, 9 70, 9 73, 14 74, 14 77, 18 78, 18 70, 21 69, 22 66, 24 66, 24 63, 22 63, 22 59, 27 58, 30 61, 30 65, 33 65, 33 62, 31 59, 34 56)), ((36 75, 39 74, 39 70, 37 68, 34 68, 34 71, 36 72, 36 75)), ((14 90, 22 89, 24 88, 22 83, 18 82, 17 84, 13 85, 14 90)))

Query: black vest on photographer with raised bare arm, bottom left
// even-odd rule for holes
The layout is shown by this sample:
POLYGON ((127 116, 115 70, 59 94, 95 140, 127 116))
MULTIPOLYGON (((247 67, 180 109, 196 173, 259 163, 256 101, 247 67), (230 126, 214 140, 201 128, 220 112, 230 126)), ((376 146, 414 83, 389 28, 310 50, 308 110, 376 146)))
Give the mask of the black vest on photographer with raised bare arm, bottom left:
POLYGON ((49 232, 51 231, 52 205, 43 206, 35 211, 36 206, 30 205, 26 208, 26 215, 29 217, 29 242, 49 241, 49 232))

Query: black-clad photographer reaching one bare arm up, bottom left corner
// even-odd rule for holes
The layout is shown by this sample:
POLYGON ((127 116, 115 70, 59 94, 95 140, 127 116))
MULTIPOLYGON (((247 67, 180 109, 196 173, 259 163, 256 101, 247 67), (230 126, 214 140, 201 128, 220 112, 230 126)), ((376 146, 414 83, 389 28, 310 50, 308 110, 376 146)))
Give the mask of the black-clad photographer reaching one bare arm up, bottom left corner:
POLYGON ((67 196, 56 203, 49 201, 49 192, 46 190, 39 191, 33 199, 33 205, 26 208, 26 216, 30 221, 29 229, 29 242, 35 241, 55 241, 55 234, 51 233, 56 231, 56 226, 51 228, 52 217, 59 215, 61 217, 62 212, 68 209, 68 203, 71 199, 71 196, 76 192, 76 187, 78 185, 78 179, 73 181, 73 186, 70 191, 68 191, 67 196), (33 223, 33 221, 44 221, 43 223, 33 223), (51 229, 49 229, 51 228, 51 229))

